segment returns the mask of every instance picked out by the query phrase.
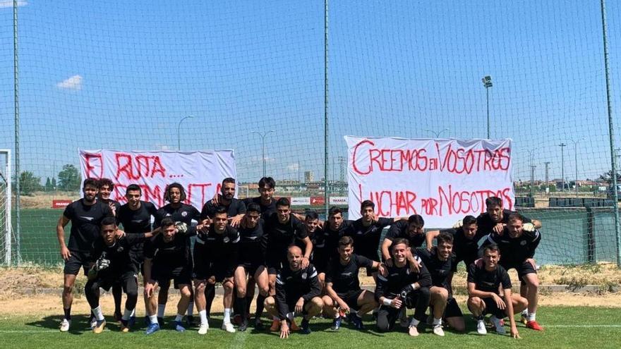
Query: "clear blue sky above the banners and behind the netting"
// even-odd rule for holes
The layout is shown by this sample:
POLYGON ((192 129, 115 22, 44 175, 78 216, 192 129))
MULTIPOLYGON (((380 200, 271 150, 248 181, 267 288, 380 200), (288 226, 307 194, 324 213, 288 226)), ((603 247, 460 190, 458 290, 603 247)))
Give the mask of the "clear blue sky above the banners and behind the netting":
MULTIPOLYGON (((12 3, 12 1, 10 1, 12 3)), ((0 148, 13 144, 13 15, 0 1, 0 148)), ((330 1, 331 178, 343 135, 514 140, 514 178, 610 166, 599 1, 330 1), (531 155, 529 155, 529 152, 531 155), (531 160, 529 160, 529 157, 531 160)), ((23 169, 83 149, 234 149, 241 180, 322 177, 323 1, 20 1, 23 169)), ((619 140, 621 7, 608 1, 619 140)), ((616 142, 621 147, 620 142, 616 142)))

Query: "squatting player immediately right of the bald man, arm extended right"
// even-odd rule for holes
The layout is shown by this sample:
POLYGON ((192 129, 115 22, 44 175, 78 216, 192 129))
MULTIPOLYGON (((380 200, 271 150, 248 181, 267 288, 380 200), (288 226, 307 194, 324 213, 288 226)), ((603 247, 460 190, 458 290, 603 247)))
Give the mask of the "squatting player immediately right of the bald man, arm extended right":
POLYGON ((358 269, 378 270, 382 276, 386 276, 386 269, 380 262, 354 254, 354 240, 350 236, 339 239, 338 251, 339 258, 333 258, 328 264, 323 310, 334 318, 333 331, 341 327, 340 312, 349 313, 349 322, 356 329, 364 329, 362 316, 375 309, 378 303, 372 292, 360 288, 358 269))

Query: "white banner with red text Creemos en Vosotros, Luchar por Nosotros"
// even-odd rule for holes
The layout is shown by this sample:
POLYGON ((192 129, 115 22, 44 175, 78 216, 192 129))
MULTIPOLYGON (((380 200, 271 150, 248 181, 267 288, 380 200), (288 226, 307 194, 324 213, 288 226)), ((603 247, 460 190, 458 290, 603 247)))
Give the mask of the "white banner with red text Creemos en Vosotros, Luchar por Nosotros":
POLYGON ((485 212, 490 196, 513 209, 511 140, 408 140, 345 136, 349 219, 363 200, 379 216, 420 214, 428 228, 485 212))

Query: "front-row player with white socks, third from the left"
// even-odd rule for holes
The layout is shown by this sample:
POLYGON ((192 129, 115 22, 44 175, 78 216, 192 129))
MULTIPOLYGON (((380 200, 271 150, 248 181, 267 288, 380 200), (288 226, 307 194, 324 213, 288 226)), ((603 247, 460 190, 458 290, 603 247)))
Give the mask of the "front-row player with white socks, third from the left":
POLYGON ((205 298, 205 288, 215 288, 215 283, 222 283, 224 288, 224 320, 222 329, 234 333, 231 324, 231 305, 233 302, 233 274, 237 266, 239 233, 227 224, 228 215, 225 207, 218 207, 212 219, 213 223, 205 226, 198 233, 194 244, 194 302, 200 315, 198 334, 207 333, 209 322, 207 307, 211 308, 209 298, 205 298))

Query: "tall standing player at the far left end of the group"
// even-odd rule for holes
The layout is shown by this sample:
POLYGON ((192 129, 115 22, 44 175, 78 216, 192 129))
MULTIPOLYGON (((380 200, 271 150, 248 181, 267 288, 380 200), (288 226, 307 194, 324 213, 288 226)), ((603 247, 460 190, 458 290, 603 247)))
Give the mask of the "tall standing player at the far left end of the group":
POLYGON ((56 236, 61 246, 61 257, 65 261, 63 310, 61 332, 69 331, 71 326, 71 304, 73 285, 80 268, 86 274, 90 261, 92 243, 100 235, 100 224, 105 217, 113 216, 107 204, 98 202, 97 180, 86 178, 82 185, 83 198, 69 204, 56 224, 56 236), (71 221, 69 244, 65 245, 65 226, 71 221))

